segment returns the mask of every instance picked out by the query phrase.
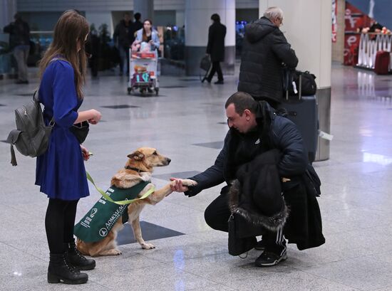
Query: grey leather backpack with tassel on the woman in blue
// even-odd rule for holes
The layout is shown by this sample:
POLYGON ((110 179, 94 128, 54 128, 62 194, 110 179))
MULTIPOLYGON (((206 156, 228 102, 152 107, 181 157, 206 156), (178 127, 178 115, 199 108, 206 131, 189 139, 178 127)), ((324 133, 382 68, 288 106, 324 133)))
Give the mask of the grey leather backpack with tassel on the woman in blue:
MULTIPOLYGON (((38 90, 37 90, 38 91, 38 90)), ((43 121, 40 102, 34 92, 33 100, 15 110, 16 129, 11 130, 6 140, 11 144, 11 164, 16 166, 14 146, 24 156, 38 157, 48 149, 49 137, 54 125, 43 121)))

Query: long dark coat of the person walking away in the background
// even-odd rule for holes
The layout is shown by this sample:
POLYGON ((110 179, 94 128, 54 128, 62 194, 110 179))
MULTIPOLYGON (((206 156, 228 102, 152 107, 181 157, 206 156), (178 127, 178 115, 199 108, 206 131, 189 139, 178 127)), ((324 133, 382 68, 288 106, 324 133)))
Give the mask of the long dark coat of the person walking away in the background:
POLYGON ((207 53, 210 54, 212 62, 225 60, 225 36, 226 26, 215 21, 208 29, 207 53))

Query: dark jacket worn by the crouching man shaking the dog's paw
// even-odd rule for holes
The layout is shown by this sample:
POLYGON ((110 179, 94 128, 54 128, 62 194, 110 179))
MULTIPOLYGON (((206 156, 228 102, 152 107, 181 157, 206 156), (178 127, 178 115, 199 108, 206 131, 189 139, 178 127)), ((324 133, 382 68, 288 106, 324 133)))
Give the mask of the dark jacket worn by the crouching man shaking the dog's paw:
POLYGON ((241 162, 238 163, 238 159, 236 161, 234 157, 238 157, 237 149, 246 142, 246 135, 230 129, 215 164, 191 177, 190 179, 197 181, 197 186, 191 187, 185 194, 194 196, 203 189, 217 186, 224 181, 228 186, 223 187, 221 194, 227 194, 229 185, 236 179, 236 172, 243 164, 251 162, 252 159, 269 149, 278 149, 282 153, 277 163, 278 174, 281 178, 291 179, 291 181, 282 183, 284 200, 290 208, 289 219, 284 228, 285 236, 289 239, 289 243, 297 243, 299 249, 311 248, 324 243, 319 205, 314 192, 309 190, 311 185, 304 184, 304 176, 306 176, 309 163, 296 125, 286 117, 275 115, 272 107, 266 102, 259 102, 256 134, 256 138, 259 138, 254 142, 254 144, 257 142, 260 144, 259 150, 253 151, 249 147, 253 143, 247 144, 244 150, 253 152, 253 157, 247 156, 247 159, 242 161, 239 159, 241 162), (268 123, 270 125, 267 125, 268 123))

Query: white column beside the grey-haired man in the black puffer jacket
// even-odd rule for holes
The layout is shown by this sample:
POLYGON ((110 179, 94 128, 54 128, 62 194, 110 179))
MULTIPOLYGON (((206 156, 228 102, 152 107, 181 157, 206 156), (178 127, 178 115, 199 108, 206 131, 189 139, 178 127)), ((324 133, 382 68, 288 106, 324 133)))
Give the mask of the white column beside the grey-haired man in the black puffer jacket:
MULTIPOLYGON (((299 59, 297 70, 309 70, 316 75, 319 128, 329 133, 331 123, 331 1, 259 0, 260 16, 271 6, 279 6, 284 12, 281 30, 299 59)), ((328 158, 329 141, 319 139, 316 160, 328 158)))

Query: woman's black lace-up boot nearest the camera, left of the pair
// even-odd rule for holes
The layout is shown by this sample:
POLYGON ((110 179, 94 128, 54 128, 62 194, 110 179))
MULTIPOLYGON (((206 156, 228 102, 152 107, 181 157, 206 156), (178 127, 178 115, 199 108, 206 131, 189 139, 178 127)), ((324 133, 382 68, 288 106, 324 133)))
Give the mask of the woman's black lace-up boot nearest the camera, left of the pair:
POLYGON ((48 283, 83 284, 88 281, 88 275, 73 268, 66 260, 65 253, 51 253, 48 267, 48 283))

